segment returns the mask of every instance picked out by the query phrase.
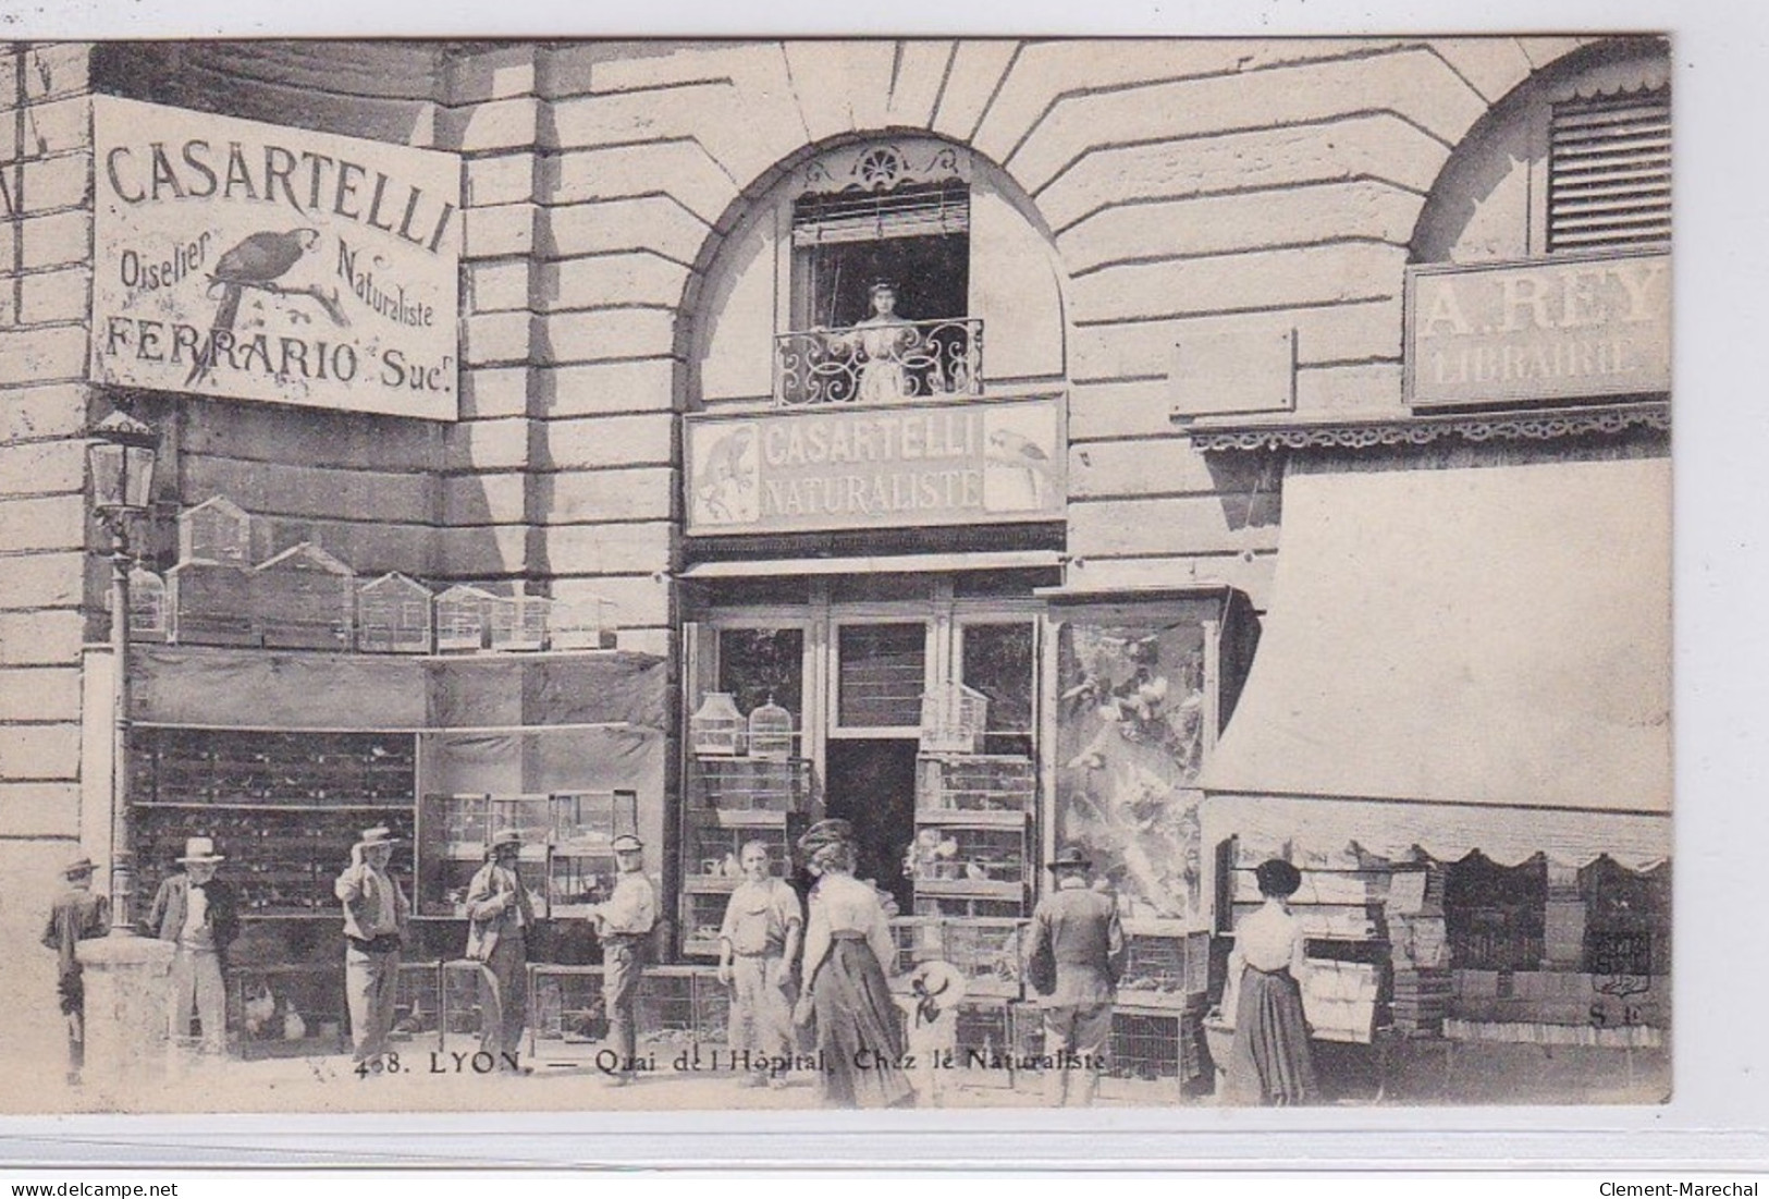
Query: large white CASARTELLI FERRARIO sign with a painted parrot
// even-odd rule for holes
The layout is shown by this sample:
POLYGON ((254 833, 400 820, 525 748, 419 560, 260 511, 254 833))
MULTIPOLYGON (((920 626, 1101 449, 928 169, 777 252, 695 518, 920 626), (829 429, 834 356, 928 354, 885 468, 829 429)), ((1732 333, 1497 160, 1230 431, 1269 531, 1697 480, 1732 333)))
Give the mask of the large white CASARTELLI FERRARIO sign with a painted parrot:
POLYGON ((92 101, 92 378, 453 421, 460 159, 92 101))

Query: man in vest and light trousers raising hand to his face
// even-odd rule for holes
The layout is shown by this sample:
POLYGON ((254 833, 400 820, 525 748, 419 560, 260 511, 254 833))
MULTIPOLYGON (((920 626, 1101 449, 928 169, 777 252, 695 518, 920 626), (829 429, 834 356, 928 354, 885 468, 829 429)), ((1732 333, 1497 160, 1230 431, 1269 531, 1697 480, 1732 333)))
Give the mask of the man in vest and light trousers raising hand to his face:
POLYGON ((363 840, 350 847, 350 868, 333 886, 343 902, 343 989, 350 1003, 354 1066, 364 1079, 384 1068, 400 950, 412 918, 410 900, 387 872, 396 844, 393 829, 363 829, 363 840))

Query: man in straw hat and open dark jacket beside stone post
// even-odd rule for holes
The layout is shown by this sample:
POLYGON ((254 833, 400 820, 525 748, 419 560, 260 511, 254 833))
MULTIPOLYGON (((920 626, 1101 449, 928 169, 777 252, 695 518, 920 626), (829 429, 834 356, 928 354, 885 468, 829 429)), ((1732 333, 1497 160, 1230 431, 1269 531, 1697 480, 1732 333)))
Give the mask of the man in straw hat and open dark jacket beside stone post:
POLYGON ((202 1049, 226 1050, 226 985, 221 981, 226 948, 239 934, 239 909, 234 888, 216 877, 226 858, 207 836, 189 836, 175 874, 159 884, 147 927, 161 941, 172 941, 172 1004, 168 1035, 173 1045, 191 1045, 191 1015, 202 1026, 202 1049))

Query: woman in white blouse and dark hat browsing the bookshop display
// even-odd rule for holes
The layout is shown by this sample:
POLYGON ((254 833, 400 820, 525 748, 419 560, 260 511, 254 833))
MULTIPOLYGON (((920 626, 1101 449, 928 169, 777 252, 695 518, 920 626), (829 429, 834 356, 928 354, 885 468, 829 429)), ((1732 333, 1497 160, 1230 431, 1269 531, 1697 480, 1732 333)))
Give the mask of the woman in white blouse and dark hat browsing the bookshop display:
POLYGON ((1306 943, 1302 921, 1284 904, 1302 886, 1302 872, 1272 859, 1254 874, 1265 904, 1235 925, 1235 951, 1228 958, 1229 985, 1238 989, 1228 1100, 1309 1104, 1318 1095, 1309 1026, 1302 1015, 1306 943))

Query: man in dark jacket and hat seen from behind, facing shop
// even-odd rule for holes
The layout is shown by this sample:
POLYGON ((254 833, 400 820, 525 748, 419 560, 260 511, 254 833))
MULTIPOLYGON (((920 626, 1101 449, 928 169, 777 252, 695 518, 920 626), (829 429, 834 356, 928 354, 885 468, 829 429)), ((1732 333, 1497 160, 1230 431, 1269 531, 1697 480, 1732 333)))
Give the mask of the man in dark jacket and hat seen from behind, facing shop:
MULTIPOLYGON (((1111 1010, 1125 941, 1118 905, 1088 886, 1093 863, 1079 845, 1067 845, 1047 863, 1056 886, 1031 914, 1028 957, 1054 960, 1054 978, 1033 978, 1044 1008, 1044 1100, 1086 1107, 1111 1038, 1111 1010), (1045 990, 1040 983, 1051 983, 1045 990)), ((1037 974, 1037 971, 1031 971, 1037 974)))

